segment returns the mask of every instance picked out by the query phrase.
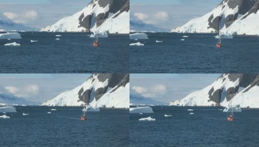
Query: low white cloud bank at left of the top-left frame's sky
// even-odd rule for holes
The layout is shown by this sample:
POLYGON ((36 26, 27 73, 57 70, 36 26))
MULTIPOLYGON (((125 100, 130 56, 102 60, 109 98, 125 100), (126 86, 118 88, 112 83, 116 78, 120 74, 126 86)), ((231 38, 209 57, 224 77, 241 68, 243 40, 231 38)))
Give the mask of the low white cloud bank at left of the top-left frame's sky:
POLYGON ((4 12, 3 15, 15 23, 26 24, 31 21, 37 20, 38 13, 33 10, 28 10, 21 14, 15 14, 12 12, 4 12))

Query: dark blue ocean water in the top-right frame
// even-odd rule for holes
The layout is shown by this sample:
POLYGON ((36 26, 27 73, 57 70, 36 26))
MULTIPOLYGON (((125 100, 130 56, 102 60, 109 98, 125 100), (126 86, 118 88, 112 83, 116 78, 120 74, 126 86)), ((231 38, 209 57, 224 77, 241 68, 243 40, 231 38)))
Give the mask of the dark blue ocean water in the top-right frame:
POLYGON ((130 40, 144 44, 129 47, 130 73, 259 72, 259 36, 223 39, 216 48, 215 35, 148 33, 149 40, 130 40))

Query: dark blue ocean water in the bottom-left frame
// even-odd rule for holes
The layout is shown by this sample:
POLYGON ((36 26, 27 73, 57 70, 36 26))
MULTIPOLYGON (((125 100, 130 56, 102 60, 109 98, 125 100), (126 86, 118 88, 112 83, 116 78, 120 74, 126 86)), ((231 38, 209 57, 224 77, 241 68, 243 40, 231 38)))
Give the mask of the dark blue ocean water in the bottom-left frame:
MULTIPOLYGON (((80 107, 18 106, 0 119, 0 147, 125 147, 129 109, 101 109, 80 121, 80 107), (57 111, 50 111, 52 108, 57 111), (47 112, 52 112, 47 114, 47 112), (23 116, 28 113, 28 116, 23 116)), ((0 115, 3 115, 0 113, 0 115)))

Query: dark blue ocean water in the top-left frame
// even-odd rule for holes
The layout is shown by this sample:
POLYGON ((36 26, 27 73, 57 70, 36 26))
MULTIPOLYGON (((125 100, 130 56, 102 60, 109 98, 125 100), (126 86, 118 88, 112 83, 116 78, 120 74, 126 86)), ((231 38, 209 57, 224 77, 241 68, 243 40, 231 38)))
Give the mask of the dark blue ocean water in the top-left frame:
POLYGON ((129 73, 129 35, 100 38, 98 48, 92 46, 90 33, 21 35, 22 39, 0 40, 0 73, 129 73), (4 46, 13 42, 21 46, 4 46))

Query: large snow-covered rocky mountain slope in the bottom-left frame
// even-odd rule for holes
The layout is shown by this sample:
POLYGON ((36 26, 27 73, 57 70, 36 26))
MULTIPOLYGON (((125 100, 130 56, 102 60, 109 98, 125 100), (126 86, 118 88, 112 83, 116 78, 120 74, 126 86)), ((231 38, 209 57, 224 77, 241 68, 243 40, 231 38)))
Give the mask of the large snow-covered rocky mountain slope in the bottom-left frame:
POLYGON ((129 108, 129 74, 92 74, 77 88, 43 103, 49 106, 80 106, 129 108))

